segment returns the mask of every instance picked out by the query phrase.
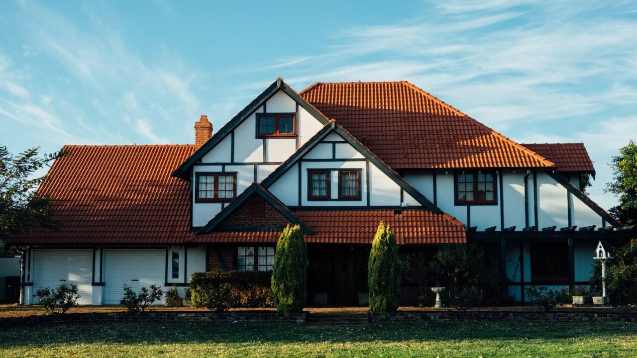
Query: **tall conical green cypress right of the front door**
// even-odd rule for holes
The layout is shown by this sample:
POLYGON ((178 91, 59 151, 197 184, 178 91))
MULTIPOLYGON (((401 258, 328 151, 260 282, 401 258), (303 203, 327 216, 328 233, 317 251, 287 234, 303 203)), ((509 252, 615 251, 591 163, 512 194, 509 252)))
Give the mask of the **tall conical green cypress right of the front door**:
POLYGON ((378 224, 368 264, 369 310, 395 311, 400 297, 401 261, 396 237, 384 222, 378 224))

